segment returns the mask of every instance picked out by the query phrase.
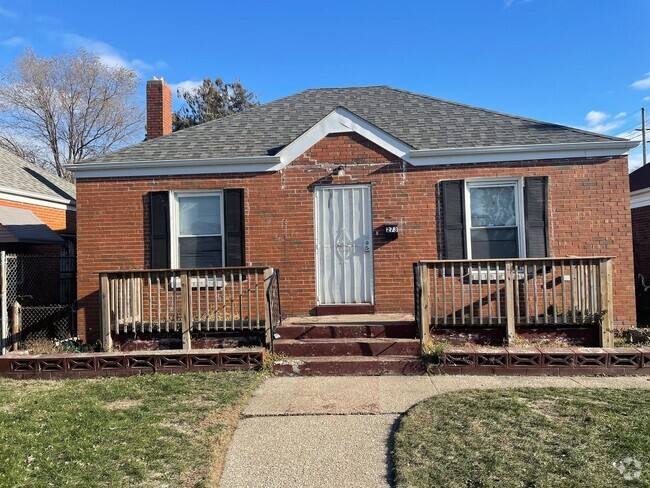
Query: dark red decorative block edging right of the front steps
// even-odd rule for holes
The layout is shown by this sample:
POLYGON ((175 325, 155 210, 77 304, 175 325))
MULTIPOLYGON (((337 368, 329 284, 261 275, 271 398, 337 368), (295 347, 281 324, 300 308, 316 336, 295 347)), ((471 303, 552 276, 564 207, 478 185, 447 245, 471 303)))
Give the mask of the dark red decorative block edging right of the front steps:
POLYGON ((650 348, 447 348, 429 373, 608 376, 650 374, 650 348))

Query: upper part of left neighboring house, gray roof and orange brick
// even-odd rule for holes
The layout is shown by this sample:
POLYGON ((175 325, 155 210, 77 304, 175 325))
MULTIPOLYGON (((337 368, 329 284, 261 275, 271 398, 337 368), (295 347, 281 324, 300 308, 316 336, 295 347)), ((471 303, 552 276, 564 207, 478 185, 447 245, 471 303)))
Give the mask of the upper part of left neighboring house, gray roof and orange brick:
POLYGON ((0 148, 0 250, 73 255, 73 183, 0 148))

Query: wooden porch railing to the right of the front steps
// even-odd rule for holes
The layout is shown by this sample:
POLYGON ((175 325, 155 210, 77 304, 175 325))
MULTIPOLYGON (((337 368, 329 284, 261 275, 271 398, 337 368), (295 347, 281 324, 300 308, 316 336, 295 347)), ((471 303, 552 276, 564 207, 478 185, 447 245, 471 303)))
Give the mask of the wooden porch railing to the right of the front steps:
POLYGON ((432 327, 593 325, 611 346, 612 258, 420 261, 414 264, 421 337, 432 327))

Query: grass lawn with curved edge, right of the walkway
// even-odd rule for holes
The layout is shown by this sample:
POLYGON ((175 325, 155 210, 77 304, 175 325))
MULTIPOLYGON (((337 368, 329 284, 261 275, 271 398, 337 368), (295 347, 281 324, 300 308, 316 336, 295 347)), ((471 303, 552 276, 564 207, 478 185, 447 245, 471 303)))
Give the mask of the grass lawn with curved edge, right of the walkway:
POLYGON ((405 415, 394 449, 398 486, 650 486, 650 391, 440 395, 405 415), (619 472, 626 458, 641 463, 639 478, 619 472))

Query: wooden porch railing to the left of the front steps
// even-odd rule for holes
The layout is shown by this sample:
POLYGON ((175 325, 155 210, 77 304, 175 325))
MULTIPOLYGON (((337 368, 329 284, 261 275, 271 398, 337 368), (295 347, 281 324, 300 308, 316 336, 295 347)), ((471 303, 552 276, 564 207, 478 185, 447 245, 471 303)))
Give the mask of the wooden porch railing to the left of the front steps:
POLYGON ((152 269, 99 273, 104 349, 120 333, 259 330, 273 340, 278 325, 277 271, 266 267, 152 269), (277 289, 277 293, 273 290, 277 289), (269 306, 269 297, 277 305, 269 306))

